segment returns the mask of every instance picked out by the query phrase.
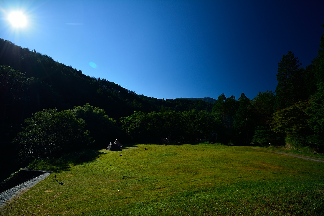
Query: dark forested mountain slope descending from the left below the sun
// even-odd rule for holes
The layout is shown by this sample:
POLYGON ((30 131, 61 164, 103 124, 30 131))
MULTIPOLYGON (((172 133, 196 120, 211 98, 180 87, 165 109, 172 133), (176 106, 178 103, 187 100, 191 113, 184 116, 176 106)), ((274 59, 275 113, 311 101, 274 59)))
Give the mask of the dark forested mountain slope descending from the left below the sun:
MULTIPOLYGON (((133 114, 135 110, 156 110, 154 106, 141 100, 135 92, 122 88, 119 84, 86 76, 82 71, 56 62, 35 50, 21 48, 3 39, 0 39, 0 50, 0 65, 10 66, 30 79, 29 85, 32 86, 28 86, 28 90, 21 89, 18 96, 19 100, 26 104, 24 117, 29 117, 32 112, 43 108, 55 106, 64 110, 86 103, 102 107, 115 119, 133 114)), ((3 105, 2 101, 1 113, 4 112, 3 105)), ((8 106, 8 109, 12 108, 8 106)))

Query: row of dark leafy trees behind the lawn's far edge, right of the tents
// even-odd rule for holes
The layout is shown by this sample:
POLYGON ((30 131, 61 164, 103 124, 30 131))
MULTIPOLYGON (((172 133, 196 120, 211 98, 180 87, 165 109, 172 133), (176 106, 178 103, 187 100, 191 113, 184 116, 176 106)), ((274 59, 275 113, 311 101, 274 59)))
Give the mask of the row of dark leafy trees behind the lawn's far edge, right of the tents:
POLYGON ((177 142, 215 139, 216 133, 222 130, 219 117, 204 110, 135 112, 122 117, 120 122, 131 140, 142 142, 160 142, 160 138, 167 137, 177 142))

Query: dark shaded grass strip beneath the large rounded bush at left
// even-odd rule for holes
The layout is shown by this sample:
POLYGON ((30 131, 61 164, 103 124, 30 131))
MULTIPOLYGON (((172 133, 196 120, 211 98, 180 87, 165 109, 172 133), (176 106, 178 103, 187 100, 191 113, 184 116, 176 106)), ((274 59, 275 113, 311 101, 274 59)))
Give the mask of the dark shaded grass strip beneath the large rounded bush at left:
POLYGON ((56 167, 59 166, 57 171, 59 173, 62 170, 69 170, 71 166, 95 161, 102 154, 107 153, 91 149, 77 150, 65 153, 57 159, 34 160, 29 164, 28 169, 55 171, 56 167))

